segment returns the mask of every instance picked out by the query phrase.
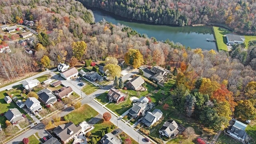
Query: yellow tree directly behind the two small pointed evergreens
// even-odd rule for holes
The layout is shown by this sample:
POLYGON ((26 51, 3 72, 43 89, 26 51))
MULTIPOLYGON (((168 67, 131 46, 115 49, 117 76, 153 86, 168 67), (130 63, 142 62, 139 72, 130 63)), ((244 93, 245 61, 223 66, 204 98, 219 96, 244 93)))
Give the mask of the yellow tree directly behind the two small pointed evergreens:
POLYGON ((105 73, 110 75, 112 78, 115 76, 119 77, 121 75, 121 67, 116 64, 107 64, 104 66, 105 73))

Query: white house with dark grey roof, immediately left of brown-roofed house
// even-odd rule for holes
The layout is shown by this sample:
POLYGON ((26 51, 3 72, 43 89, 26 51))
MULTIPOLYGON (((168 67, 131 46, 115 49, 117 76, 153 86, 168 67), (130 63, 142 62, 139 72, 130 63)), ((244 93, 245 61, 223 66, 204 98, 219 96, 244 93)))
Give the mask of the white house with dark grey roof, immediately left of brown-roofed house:
POLYGON ((37 95, 39 100, 41 100, 41 102, 43 102, 45 105, 54 104, 57 102, 56 96, 54 96, 54 94, 52 94, 52 92, 47 88, 40 90, 37 95))

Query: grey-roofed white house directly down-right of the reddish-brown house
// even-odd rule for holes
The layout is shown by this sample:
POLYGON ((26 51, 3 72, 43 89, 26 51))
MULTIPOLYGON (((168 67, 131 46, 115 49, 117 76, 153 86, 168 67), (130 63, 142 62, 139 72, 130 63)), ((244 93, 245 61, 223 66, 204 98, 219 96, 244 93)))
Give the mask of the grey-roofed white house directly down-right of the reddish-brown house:
POLYGON ((142 116, 146 113, 148 108, 148 98, 142 96, 136 103, 133 103, 132 108, 129 110, 129 114, 133 117, 142 116))

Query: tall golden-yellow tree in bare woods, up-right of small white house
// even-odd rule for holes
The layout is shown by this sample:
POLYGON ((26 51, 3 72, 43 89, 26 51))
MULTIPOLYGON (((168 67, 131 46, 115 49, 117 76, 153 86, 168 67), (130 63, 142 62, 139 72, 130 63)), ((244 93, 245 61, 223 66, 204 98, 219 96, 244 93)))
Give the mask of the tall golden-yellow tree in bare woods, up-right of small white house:
POLYGON ((87 44, 84 41, 72 42, 71 47, 74 57, 81 60, 86 52, 87 44))

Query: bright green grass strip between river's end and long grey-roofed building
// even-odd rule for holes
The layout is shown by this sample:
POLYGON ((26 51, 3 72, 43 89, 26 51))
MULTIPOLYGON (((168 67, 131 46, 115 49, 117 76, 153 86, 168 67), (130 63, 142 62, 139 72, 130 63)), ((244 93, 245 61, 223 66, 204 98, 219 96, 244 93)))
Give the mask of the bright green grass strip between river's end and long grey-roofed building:
POLYGON ((227 42, 226 42, 226 37, 224 36, 225 34, 230 33, 230 31, 228 31, 225 28, 220 28, 220 27, 213 27, 213 32, 214 32, 214 37, 216 39, 216 43, 217 43, 217 47, 218 50, 225 50, 228 51, 228 47, 227 47, 227 42))

